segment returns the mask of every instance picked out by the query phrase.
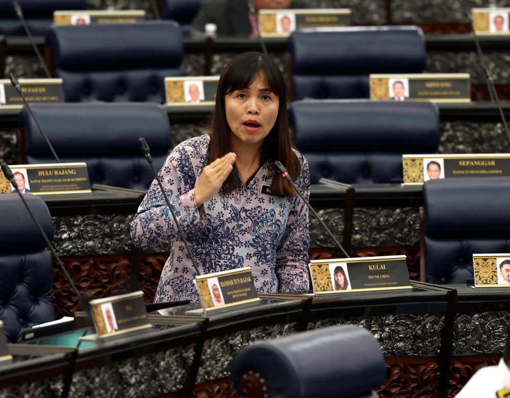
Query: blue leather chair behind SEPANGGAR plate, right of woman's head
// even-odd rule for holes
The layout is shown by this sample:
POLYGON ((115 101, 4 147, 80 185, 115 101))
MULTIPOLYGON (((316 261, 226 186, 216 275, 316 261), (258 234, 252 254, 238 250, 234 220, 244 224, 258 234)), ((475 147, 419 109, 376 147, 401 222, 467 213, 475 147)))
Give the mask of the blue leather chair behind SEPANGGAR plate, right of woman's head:
POLYGON ((439 146, 439 112, 428 102, 295 101, 289 120, 312 184, 396 182, 402 154, 435 153, 439 146))

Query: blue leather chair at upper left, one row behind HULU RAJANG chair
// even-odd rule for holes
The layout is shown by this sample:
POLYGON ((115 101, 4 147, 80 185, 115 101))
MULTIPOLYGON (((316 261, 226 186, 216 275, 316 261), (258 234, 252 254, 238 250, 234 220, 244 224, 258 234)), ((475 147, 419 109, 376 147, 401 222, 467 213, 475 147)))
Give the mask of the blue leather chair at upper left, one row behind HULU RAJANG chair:
POLYGON ((66 102, 163 103, 164 78, 185 74, 174 21, 52 26, 46 47, 66 102))

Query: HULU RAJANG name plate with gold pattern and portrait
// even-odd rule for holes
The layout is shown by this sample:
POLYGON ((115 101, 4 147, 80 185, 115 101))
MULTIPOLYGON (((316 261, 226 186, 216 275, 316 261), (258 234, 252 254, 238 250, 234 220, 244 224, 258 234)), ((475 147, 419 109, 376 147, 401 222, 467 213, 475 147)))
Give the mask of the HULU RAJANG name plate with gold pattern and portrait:
MULTIPOLYGON (((86 163, 16 164, 10 168, 21 193, 48 195, 91 192, 86 163)), ((0 193, 16 193, 2 170, 0 193)))

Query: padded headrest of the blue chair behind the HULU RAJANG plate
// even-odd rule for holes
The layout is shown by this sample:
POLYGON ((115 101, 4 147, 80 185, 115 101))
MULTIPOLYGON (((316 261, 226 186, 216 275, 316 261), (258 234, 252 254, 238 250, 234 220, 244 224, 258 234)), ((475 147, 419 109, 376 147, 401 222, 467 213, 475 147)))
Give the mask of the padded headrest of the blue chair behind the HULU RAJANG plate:
MULTIPOLYGON (((140 137, 154 155, 171 146, 168 115, 159 104, 33 104, 32 110, 59 157, 142 156, 140 137)), ((52 157, 27 108, 19 113, 18 124, 25 130, 27 155, 52 157)))

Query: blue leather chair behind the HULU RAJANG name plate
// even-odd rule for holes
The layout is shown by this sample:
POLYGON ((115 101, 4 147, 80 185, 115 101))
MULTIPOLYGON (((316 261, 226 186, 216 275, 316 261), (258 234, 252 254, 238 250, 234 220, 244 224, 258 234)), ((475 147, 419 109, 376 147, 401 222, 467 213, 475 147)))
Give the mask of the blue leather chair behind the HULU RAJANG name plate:
MULTIPOLYGON (((87 163, 91 184, 146 190, 154 174, 138 138, 147 140, 158 170, 171 147, 168 115, 158 104, 33 104, 32 109, 62 161, 87 163)), ((24 132, 20 161, 55 163, 26 108, 18 124, 24 132)))

